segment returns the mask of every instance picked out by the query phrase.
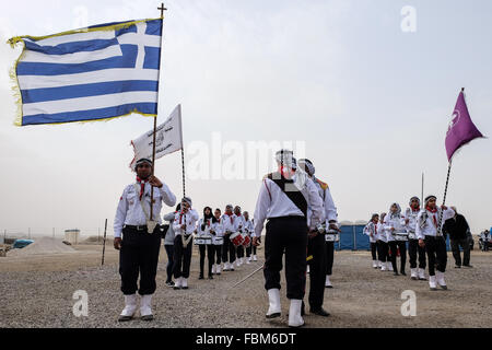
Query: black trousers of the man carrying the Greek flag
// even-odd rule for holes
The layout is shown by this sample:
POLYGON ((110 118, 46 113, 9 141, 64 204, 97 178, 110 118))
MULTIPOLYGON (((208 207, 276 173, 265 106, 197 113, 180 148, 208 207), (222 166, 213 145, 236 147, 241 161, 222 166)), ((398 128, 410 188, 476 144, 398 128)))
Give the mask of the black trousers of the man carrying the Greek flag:
POLYGON ((121 292, 131 295, 137 292, 140 273, 140 295, 155 292, 155 275, 157 273, 159 250, 161 249, 160 228, 154 233, 124 228, 121 249, 119 250, 119 275, 121 292))

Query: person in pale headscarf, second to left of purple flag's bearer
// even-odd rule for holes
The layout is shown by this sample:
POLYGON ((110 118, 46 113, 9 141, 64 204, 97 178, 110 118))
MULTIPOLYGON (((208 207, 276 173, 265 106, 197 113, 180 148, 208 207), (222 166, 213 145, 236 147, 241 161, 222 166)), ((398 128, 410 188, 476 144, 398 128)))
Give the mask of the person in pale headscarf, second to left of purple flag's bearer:
POLYGON ((400 249, 400 273, 407 276, 405 273, 405 265, 407 262, 407 242, 397 241, 395 235, 396 233, 401 233, 405 229, 403 219, 401 217, 401 208, 398 203, 393 203, 389 208, 389 214, 386 217, 385 230, 388 236, 388 244, 391 258, 393 269, 395 270, 394 275, 398 276, 398 267, 397 267, 397 255, 398 249, 400 249))

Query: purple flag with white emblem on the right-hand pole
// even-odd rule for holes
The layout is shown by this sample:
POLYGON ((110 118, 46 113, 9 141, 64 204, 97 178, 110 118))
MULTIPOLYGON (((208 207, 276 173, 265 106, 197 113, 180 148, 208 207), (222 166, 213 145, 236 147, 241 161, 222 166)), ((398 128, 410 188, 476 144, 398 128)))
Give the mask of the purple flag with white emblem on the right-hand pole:
POLYGON ((452 118, 453 120, 449 122, 446 133, 446 153, 448 161, 450 161, 453 154, 455 154, 461 145, 473 139, 483 137, 475 126, 473 121, 471 121, 462 90, 459 93, 452 118))

